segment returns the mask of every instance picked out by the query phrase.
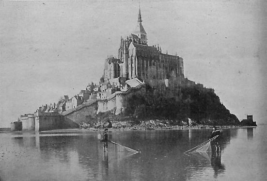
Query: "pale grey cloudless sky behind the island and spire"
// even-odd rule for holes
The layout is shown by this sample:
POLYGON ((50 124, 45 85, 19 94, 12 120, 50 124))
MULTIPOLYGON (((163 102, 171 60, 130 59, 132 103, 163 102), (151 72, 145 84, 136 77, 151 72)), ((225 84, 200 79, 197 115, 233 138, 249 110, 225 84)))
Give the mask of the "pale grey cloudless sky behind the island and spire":
MULTIPOLYGON (((241 121, 267 121, 267 2, 140 0, 148 44, 184 59, 241 121)), ((139 0, 0 0, 0 127, 99 82, 139 0)))

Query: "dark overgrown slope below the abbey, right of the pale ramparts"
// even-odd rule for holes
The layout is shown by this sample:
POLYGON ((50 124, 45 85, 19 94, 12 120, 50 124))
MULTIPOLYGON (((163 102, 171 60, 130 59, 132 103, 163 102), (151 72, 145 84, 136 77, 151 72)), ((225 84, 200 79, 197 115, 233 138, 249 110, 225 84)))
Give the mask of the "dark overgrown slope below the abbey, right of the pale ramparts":
POLYGON ((164 91, 147 85, 144 94, 130 93, 128 103, 127 115, 143 120, 168 119, 181 124, 189 117, 197 124, 239 124, 236 115, 230 114, 213 89, 187 81, 176 89, 166 87, 164 91))

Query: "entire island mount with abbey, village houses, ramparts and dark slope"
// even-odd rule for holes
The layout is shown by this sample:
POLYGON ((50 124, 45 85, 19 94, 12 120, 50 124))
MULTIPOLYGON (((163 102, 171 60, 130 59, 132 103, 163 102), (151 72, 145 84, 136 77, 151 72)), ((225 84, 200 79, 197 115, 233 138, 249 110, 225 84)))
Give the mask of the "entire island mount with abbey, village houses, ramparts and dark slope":
MULTIPOLYGON (((149 45, 148 37, 139 9, 136 27, 121 37, 117 56, 103 60, 99 83, 21 115, 11 123, 12 130, 240 124, 214 89, 185 78, 182 57, 163 52, 159 44, 149 45)), ((242 123, 256 126, 252 115, 242 123)))

